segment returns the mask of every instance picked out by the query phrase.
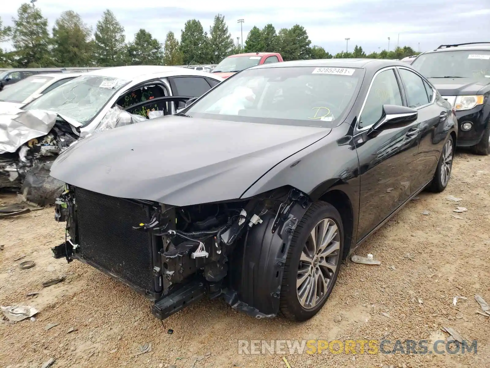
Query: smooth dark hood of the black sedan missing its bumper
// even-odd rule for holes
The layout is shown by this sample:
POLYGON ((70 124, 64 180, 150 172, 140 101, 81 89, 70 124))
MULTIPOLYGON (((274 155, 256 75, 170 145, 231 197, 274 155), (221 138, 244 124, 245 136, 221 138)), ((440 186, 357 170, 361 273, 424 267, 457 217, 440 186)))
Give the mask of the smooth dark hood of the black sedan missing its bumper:
POLYGON ((78 140, 55 160, 51 176, 106 195, 174 206, 236 199, 330 131, 167 116, 78 140))

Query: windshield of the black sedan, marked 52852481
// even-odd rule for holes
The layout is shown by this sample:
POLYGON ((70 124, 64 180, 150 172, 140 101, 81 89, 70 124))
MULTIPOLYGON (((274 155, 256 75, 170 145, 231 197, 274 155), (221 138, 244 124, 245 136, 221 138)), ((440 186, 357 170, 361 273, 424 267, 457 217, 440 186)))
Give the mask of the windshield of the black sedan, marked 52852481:
POLYGON ((250 69, 221 82, 183 111, 217 120, 330 127, 353 103, 364 71, 355 68, 250 69))

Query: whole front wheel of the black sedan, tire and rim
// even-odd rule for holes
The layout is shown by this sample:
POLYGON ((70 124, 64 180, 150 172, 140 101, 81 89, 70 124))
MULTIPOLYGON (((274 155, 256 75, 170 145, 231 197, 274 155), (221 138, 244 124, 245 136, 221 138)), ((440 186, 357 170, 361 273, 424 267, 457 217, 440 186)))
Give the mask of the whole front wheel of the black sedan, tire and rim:
POLYGON ((288 250, 280 298, 283 317, 305 321, 319 312, 337 280, 342 251, 339 211, 326 202, 312 204, 288 250))

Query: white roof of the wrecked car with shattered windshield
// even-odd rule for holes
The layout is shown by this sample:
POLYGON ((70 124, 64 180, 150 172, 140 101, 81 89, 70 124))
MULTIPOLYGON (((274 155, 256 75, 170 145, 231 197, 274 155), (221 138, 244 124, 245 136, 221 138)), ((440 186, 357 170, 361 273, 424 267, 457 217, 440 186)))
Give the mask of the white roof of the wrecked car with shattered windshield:
POLYGON ((122 79, 140 79, 144 77, 174 77, 174 76, 202 76, 210 77, 209 73, 201 72, 191 68, 181 68, 178 66, 159 66, 159 65, 130 65, 104 68, 83 73, 83 75, 100 77, 113 77, 122 79))

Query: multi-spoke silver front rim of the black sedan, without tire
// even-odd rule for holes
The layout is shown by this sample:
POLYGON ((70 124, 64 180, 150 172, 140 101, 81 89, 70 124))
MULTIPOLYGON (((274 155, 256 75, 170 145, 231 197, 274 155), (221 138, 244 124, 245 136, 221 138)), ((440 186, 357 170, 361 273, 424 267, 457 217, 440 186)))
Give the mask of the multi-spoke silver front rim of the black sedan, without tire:
POLYGON ((326 297, 339 255, 339 228, 334 220, 324 218, 311 231, 299 259, 296 290, 303 308, 314 308, 326 297))

